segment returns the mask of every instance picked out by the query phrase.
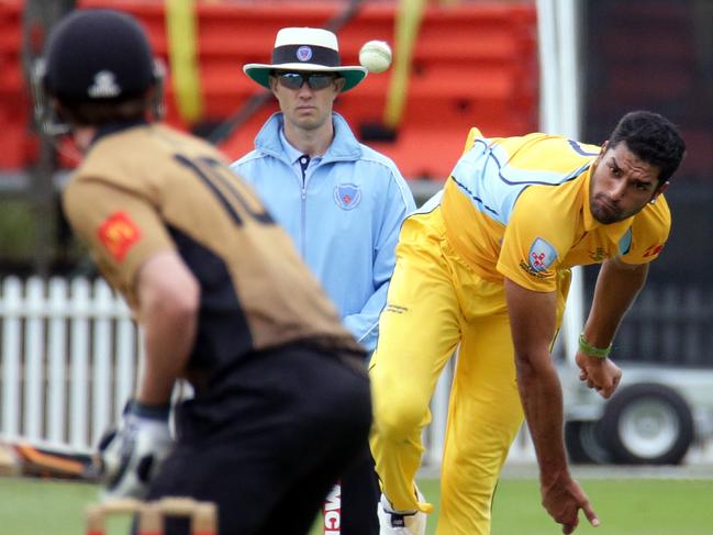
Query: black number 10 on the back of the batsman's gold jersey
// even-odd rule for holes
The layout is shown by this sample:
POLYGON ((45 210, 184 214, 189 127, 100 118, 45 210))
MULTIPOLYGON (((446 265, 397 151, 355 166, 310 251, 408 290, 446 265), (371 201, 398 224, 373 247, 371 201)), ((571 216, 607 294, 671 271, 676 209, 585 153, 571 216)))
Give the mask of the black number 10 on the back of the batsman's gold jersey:
POLYGON ((180 165, 193 171, 208 186, 238 226, 244 224, 245 216, 256 223, 275 224, 270 214, 257 202, 255 196, 241 183, 239 179, 222 161, 208 157, 190 159, 182 154, 175 154, 174 158, 180 165))

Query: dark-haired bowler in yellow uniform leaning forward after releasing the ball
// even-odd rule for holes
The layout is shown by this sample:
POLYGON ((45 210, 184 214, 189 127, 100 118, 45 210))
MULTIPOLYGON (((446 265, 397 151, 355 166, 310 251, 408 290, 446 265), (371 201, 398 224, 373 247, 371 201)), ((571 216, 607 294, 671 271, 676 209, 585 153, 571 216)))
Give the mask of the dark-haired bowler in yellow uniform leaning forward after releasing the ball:
POLYGON ((483 138, 472 129, 444 189, 409 216, 371 360, 371 449, 382 483, 382 534, 423 535, 432 505, 414 484, 428 403, 457 349, 441 480, 438 535, 487 535, 499 473, 522 422, 542 503, 572 533, 582 510, 571 478, 550 347, 572 266, 601 264, 576 356, 603 398, 626 310, 669 234, 662 196, 684 142, 656 113, 624 115, 601 147, 534 133, 483 138))

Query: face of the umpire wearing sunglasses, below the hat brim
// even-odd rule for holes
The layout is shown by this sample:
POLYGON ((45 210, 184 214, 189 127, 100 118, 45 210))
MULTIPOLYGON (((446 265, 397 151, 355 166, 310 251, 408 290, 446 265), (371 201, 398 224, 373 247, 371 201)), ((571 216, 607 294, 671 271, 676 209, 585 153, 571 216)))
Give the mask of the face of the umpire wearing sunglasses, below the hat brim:
POLYGON ((334 99, 344 86, 343 78, 334 80, 323 89, 312 89, 307 82, 299 89, 290 89, 270 76, 270 89, 280 104, 285 121, 304 131, 319 130, 332 120, 334 99))

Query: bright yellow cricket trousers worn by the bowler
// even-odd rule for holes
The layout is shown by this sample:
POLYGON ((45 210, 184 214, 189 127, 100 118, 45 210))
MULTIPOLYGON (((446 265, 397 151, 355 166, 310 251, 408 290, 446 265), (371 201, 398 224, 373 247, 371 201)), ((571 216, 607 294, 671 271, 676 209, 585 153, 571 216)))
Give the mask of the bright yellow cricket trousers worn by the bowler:
POLYGON ((436 533, 489 534, 495 483, 523 422, 510 321, 503 283, 483 280, 453 250, 441 207, 404 222, 379 330, 369 375, 383 493, 397 510, 431 512, 413 490, 421 434, 436 381, 458 348, 436 533))

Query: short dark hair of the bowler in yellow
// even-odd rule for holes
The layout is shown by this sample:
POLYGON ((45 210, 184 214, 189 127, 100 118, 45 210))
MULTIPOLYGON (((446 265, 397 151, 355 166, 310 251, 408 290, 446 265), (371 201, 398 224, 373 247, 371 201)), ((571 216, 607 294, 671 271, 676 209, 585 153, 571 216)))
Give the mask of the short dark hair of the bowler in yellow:
POLYGON ((609 138, 609 148, 620 142, 639 159, 660 169, 658 185, 671 178, 686 153, 686 143, 668 119, 650 111, 624 115, 609 138))

